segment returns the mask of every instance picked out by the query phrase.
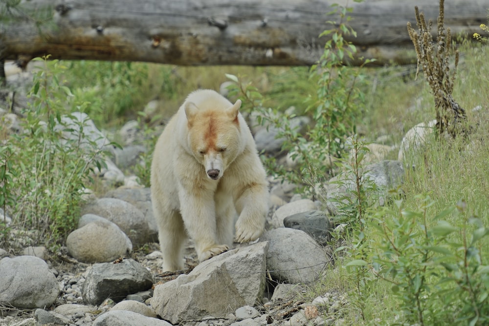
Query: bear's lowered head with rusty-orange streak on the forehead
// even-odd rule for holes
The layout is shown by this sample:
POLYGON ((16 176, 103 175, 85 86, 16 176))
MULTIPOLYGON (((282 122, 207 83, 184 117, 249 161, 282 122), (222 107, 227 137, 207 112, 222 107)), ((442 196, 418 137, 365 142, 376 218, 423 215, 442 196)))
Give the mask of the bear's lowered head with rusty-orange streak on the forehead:
POLYGON ((185 103, 188 143, 209 179, 219 180, 225 169, 243 151, 238 119, 241 101, 226 108, 199 108, 185 103))

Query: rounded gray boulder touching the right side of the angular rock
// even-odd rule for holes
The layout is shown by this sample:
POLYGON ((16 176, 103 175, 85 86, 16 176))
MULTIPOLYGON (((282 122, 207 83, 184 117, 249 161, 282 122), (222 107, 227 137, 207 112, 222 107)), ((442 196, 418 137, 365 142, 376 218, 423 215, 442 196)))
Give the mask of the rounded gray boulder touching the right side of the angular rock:
POLYGON ((270 230, 260 238, 268 242, 267 270, 283 283, 310 283, 320 276, 331 260, 306 232, 288 227, 270 230))

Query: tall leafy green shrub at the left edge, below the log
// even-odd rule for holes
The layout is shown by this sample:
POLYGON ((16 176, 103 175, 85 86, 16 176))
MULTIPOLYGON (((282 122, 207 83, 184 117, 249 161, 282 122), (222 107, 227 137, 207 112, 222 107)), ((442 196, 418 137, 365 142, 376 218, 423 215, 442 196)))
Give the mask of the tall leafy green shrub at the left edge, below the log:
MULTIPOLYGON (((67 124, 62 119, 74 118, 66 109, 73 95, 58 79, 66 66, 47 58, 34 61, 41 61, 43 68, 34 73, 23 132, 0 145, 0 204, 14 224, 37 230, 36 242, 53 246, 75 227, 85 183, 93 167, 101 166, 102 148, 84 139, 84 121, 72 119, 67 124), (64 137, 63 133, 73 134, 72 123, 80 130, 78 137, 64 137)), ((89 102, 73 103, 80 111, 89 106, 89 102)))

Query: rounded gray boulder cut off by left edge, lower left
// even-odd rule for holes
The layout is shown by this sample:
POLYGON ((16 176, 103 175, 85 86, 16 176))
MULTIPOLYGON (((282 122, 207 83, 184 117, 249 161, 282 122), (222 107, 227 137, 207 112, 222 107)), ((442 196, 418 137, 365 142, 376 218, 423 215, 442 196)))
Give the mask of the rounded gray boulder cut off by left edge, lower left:
POLYGON ((56 302, 60 289, 46 262, 35 256, 0 260, 0 305, 44 308, 56 302))

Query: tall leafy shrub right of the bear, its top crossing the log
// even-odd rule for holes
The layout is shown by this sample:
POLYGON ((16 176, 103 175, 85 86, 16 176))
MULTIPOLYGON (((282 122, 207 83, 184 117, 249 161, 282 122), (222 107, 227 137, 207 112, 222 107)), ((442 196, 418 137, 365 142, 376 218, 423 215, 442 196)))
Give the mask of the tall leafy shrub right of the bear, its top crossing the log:
POLYGON ((316 198, 323 195, 322 189, 316 185, 331 175, 334 158, 344 153, 344 143, 355 134, 356 125, 363 115, 361 104, 364 96, 359 84, 364 81, 364 76, 360 73, 361 67, 347 65, 347 60, 353 60, 356 47, 344 39, 346 35, 356 35, 347 25, 349 17, 346 14, 351 8, 334 6, 335 11, 330 14, 338 13, 346 22, 328 21, 337 27, 320 35, 328 36, 329 40, 320 60, 311 67, 310 77, 318 82, 316 94, 304 99, 308 103, 306 113, 313 120, 304 133, 290 123, 295 113, 266 107, 263 95, 251 82, 227 75, 236 83, 230 87, 230 95, 241 97, 244 108, 257 113, 259 123, 279 130, 277 137, 285 139, 282 150, 297 163, 297 168, 290 171, 278 165, 273 158, 268 158, 268 173, 292 183, 305 184, 303 190, 306 194, 316 198))

